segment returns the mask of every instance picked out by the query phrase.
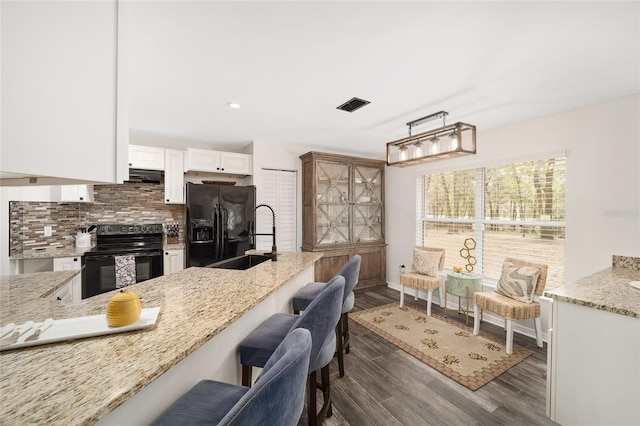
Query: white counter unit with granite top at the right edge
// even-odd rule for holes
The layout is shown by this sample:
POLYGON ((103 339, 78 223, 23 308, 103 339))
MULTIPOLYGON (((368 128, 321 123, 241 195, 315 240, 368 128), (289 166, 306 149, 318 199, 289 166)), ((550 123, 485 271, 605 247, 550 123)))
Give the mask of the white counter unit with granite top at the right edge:
POLYGON ((547 414, 562 424, 640 424, 640 258, 557 289, 547 357, 547 414))

